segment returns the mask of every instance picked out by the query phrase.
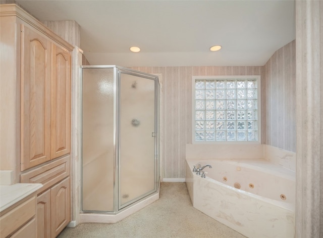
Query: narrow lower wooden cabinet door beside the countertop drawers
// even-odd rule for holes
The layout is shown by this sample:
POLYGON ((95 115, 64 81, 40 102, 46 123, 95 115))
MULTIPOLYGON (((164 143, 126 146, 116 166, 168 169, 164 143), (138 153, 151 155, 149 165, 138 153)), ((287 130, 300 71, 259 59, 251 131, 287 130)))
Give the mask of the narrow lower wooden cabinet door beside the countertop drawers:
POLYGON ((37 197, 37 237, 50 238, 50 189, 37 197))

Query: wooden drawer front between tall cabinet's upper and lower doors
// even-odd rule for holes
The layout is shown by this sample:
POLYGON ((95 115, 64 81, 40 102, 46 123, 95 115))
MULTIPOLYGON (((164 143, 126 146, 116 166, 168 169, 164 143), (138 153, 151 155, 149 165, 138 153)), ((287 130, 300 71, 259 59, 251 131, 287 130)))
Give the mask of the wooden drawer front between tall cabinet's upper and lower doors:
POLYGON ((23 183, 42 183, 43 187, 37 191, 40 194, 69 175, 70 155, 21 174, 20 181, 23 183))

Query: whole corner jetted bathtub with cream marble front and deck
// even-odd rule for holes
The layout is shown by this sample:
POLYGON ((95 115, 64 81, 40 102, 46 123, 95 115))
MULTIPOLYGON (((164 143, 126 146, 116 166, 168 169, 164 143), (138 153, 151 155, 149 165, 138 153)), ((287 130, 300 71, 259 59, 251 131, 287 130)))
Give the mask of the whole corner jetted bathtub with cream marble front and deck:
POLYGON ((295 172, 263 159, 186 162, 194 208, 247 237, 295 236, 295 172), (197 164, 212 166, 205 178, 197 164))

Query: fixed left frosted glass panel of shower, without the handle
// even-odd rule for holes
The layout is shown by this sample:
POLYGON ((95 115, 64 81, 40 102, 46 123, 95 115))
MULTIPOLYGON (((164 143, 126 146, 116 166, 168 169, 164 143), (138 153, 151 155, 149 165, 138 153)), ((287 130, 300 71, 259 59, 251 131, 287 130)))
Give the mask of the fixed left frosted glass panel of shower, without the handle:
POLYGON ((114 69, 82 69, 82 210, 114 211, 114 69))

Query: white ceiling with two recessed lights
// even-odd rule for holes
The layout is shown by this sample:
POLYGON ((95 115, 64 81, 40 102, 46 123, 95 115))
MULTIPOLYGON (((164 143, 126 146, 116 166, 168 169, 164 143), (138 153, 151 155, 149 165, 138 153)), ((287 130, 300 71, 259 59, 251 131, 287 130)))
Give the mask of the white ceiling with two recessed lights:
POLYGON ((262 66, 295 39, 294 1, 16 2, 40 21, 75 20, 95 65, 262 66))

